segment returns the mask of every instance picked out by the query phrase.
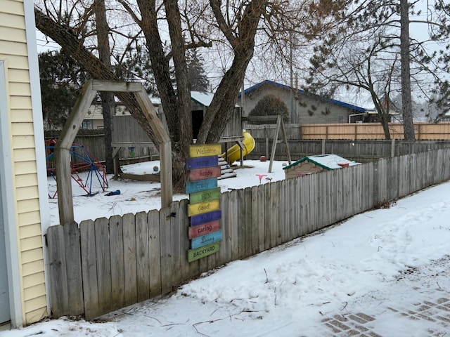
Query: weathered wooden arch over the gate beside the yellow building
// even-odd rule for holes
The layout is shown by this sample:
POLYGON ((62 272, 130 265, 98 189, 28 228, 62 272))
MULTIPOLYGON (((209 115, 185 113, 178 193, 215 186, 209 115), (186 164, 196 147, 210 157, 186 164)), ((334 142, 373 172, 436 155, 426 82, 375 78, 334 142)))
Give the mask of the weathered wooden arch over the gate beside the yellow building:
POLYGON ((77 102, 55 146, 56 188, 58 191, 58 212, 61 225, 74 220, 72 183, 70 180, 70 147, 97 91, 134 93, 143 113, 146 115, 148 124, 150 124, 160 142, 161 206, 167 207, 172 203, 172 148, 170 138, 160 119, 158 119, 155 107, 153 107, 142 84, 91 79, 84 84, 82 92, 77 98, 77 102))

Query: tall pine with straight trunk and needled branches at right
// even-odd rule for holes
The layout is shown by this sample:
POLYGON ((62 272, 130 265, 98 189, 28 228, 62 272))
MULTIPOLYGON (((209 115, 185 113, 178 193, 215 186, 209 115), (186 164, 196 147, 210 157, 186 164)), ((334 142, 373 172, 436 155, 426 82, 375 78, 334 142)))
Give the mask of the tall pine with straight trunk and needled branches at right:
MULTIPOLYGON (((425 1, 422 1, 425 2, 425 1)), ((355 40, 364 41, 366 44, 366 51, 361 48, 354 50, 357 58, 360 60, 368 60, 371 58, 371 73, 392 74, 393 77, 385 77, 385 88, 390 88, 390 91, 401 91, 402 93, 402 115, 404 123, 404 138, 408 140, 415 139, 413 129, 413 110, 411 91, 415 91, 425 98, 430 97, 430 93, 441 91, 445 87, 445 82, 442 81, 442 74, 444 73, 445 60, 448 58, 447 51, 443 50, 440 53, 432 53, 427 46, 430 41, 441 41, 448 45, 450 25, 446 22, 449 18, 449 5, 444 5, 443 1, 429 1, 428 11, 426 17, 422 18, 422 13, 416 11, 416 5, 420 1, 348 1, 348 11, 345 15, 345 20, 342 20, 340 25, 335 26, 335 30, 331 34, 327 34, 322 39, 321 48, 316 49, 313 61, 324 60, 328 62, 330 51, 333 50, 335 56, 337 50, 348 50, 352 48, 355 40), (419 41, 409 34, 409 25, 423 25, 430 29, 430 39, 419 41), (378 50, 383 50, 384 53, 376 52, 372 55, 375 44, 378 40, 371 41, 366 37, 371 37, 376 34, 381 37, 383 41, 379 44, 378 50), (330 46, 333 44, 333 46, 330 46), (347 44, 347 47, 345 46, 347 44), (386 64, 386 55, 390 54, 390 62, 386 64), (397 54, 397 56, 395 55, 397 54), (395 70, 392 68, 394 63, 399 62, 400 76, 397 77, 395 70), (434 79, 437 89, 432 91, 430 88, 430 79, 434 79)), ((339 55, 339 53, 338 53, 339 55)), ((313 62, 313 68, 316 64, 313 62)), ((337 62, 330 62, 330 67, 334 70, 347 71, 352 62, 346 58, 340 57, 337 62)), ((368 68, 367 68, 368 69, 368 68)), ((366 77, 368 74, 366 74, 366 77)), ((313 80, 312 77, 309 80, 313 80)), ((351 81, 350 81, 351 82, 351 81)), ((448 82, 447 82, 448 83, 448 82)), ((319 83, 320 84, 320 83, 319 83)), ((336 86, 338 82, 334 83, 336 86)), ((352 83, 345 83, 340 81, 341 86, 352 86, 352 83)), ((317 83, 316 83, 317 85, 317 83)), ((314 86, 313 86, 314 87, 314 86)), ((361 87, 361 86, 360 86, 361 87)), ((333 88, 330 85, 328 88, 333 88)), ((362 88, 362 87, 361 87, 362 88)), ((365 88, 368 90, 367 88, 365 88)), ((386 96, 391 93, 385 92, 383 86, 375 88, 376 96, 386 96)), ((329 91, 333 93, 333 90, 329 91)), ((374 99, 373 93, 368 90, 373 98, 373 103, 378 109, 377 99, 374 99)), ((380 112, 380 110, 379 110, 380 112)), ((383 121, 383 116, 382 116, 383 121)))

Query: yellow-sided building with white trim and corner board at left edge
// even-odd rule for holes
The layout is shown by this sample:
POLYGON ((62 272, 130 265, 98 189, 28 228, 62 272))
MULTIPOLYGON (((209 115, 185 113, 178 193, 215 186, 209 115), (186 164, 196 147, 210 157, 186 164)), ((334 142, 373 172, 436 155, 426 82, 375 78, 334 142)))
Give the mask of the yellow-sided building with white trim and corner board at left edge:
POLYGON ((50 217, 33 2, 0 0, 0 17, 1 330, 48 315, 50 217))

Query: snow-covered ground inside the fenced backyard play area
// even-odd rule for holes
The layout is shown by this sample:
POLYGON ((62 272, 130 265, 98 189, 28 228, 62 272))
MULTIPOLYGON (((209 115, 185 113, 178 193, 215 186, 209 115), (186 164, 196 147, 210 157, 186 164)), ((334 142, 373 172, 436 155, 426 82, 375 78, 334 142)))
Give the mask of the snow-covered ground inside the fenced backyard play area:
MULTIPOLYGON (((239 189, 242 187, 255 186, 259 184, 257 175, 266 175, 262 177, 261 183, 267 183, 266 178, 271 181, 283 180, 283 162, 274 161, 272 166, 272 173, 269 171, 269 161, 245 160, 245 168, 240 169, 236 166, 237 177, 218 180, 218 185, 222 192, 229 188, 239 189)), ((287 163, 286 163, 287 164, 287 163)), ((146 161, 144 163, 122 166, 124 173, 134 174, 150 174, 155 173, 153 167, 157 166, 159 169, 159 161, 146 161)), ((158 171, 157 171, 158 172, 158 171)), ((80 178, 86 185, 86 173, 81 173, 80 178)), ((126 213, 137 213, 140 211, 150 211, 151 209, 161 208, 160 183, 150 183, 136 180, 113 180, 112 176, 108 176, 109 187, 103 192, 101 185, 96 180, 95 176, 92 179, 92 197, 85 197, 86 192, 82 190, 75 180, 72 180, 72 194, 75 221, 80 223, 82 220, 96 219, 105 216, 123 215, 126 213), (120 190, 120 194, 106 196, 108 192, 120 190)), ((49 195, 53 197, 56 192, 56 180, 48 178, 49 195)), ((88 189, 89 190, 89 189, 88 189)), ((188 199, 187 194, 174 194, 174 200, 188 199)), ((49 199, 51 225, 59 224, 58 216, 58 195, 55 199, 49 199)))

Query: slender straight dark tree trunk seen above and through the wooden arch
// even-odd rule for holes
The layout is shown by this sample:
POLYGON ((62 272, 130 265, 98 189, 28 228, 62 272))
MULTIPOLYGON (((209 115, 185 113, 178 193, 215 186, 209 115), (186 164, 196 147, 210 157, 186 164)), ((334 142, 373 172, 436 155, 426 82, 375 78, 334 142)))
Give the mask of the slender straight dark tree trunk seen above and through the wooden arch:
MULTIPOLYGON (((98 56, 101 62, 111 70, 111 52, 109 43, 109 27, 106 21, 106 8, 104 0, 94 0, 94 11, 96 14, 97 46, 98 56)), ((115 111, 114 94, 109 91, 100 93, 101 107, 103 111, 103 127, 105 131, 105 166, 106 173, 114 173, 113 164, 113 134, 111 130, 111 119, 115 111)))

